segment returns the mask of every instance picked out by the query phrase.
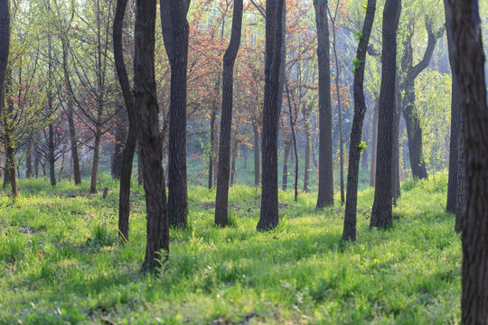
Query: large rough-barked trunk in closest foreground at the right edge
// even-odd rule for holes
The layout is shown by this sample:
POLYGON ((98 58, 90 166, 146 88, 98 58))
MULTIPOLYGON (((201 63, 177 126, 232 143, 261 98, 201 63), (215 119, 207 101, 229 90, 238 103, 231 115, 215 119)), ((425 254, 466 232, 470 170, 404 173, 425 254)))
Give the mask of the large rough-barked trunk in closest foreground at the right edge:
POLYGON ((461 96, 466 153, 462 318, 465 325, 488 320, 488 105, 481 19, 477 0, 449 0, 455 44, 455 75, 461 96))

